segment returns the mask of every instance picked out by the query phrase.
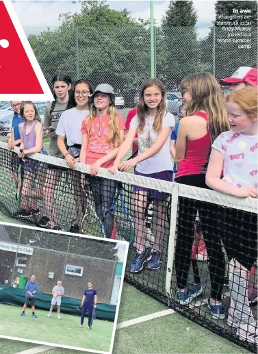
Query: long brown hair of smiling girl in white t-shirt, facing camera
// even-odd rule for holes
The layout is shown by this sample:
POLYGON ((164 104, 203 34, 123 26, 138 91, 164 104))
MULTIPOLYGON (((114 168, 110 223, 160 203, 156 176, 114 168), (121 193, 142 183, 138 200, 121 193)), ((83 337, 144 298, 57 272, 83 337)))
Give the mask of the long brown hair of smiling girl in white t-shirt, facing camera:
POLYGON ((146 88, 156 86, 158 90, 162 94, 162 101, 157 106, 157 113, 154 118, 153 129, 155 131, 160 131, 162 129, 162 121, 164 115, 166 114, 166 89, 162 81, 159 79, 148 79, 143 81, 141 88, 140 88, 140 95, 139 95, 139 102, 137 106, 137 116, 139 120, 138 131, 142 131, 145 125, 145 118, 146 118, 146 110, 148 109, 147 105, 144 103, 144 91, 146 88))

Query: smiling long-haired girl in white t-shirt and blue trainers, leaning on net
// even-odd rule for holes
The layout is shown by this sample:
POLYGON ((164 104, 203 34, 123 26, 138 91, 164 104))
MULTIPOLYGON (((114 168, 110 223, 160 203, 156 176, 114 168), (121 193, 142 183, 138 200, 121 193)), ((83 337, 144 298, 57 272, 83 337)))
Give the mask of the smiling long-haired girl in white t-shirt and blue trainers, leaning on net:
MULTIPOLYGON (((174 127, 175 118, 166 110, 166 90, 162 81, 159 79, 144 81, 140 89, 138 114, 130 123, 129 132, 118 151, 111 172, 115 173, 118 169, 127 171, 136 166, 136 175, 172 181, 170 134, 174 127), (121 163, 137 132, 138 156, 121 163)), ((136 259, 129 267, 129 272, 138 273, 144 267, 148 269, 160 267, 160 249, 168 227, 166 221, 168 194, 139 186, 134 186, 133 192, 135 192, 136 259), (159 220, 156 223, 153 252, 145 247, 144 212, 148 197, 153 199, 153 214, 159 220)))

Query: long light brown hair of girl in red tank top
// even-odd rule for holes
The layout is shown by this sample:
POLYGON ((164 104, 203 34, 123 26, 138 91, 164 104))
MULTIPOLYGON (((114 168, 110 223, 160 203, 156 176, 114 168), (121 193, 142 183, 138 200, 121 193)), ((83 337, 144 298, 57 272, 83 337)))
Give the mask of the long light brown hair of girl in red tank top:
POLYGON ((187 90, 192 100, 185 105, 186 114, 194 116, 198 111, 208 114, 208 131, 211 143, 223 132, 229 130, 226 99, 215 77, 209 73, 193 74, 181 82, 181 90, 187 90))

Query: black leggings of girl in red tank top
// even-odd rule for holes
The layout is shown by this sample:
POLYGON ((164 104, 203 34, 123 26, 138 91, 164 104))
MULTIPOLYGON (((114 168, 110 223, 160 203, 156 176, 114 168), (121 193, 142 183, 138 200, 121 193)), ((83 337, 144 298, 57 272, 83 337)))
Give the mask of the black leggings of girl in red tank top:
MULTIPOLYGON (((206 188, 205 175, 188 175, 178 177, 175 182, 206 188)), ((224 253, 220 237, 216 230, 217 218, 214 213, 214 204, 196 201, 194 199, 179 198, 179 216, 177 227, 177 246, 175 253, 175 268, 177 273, 177 286, 186 288, 191 264, 192 244, 194 242, 194 223, 197 211, 201 219, 203 237, 205 239, 209 257, 209 276, 211 280, 211 297, 220 301, 224 281, 224 253)))

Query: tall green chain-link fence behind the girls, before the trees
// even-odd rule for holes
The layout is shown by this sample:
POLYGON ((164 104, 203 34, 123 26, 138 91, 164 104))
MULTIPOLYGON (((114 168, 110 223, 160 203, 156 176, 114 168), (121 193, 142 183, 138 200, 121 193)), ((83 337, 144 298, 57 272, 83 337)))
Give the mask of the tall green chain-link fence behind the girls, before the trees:
MULTIPOLYGON (((224 28, 211 27, 200 39, 196 27, 155 27, 155 76, 167 90, 179 90, 181 80, 192 73, 208 71, 219 80, 240 66, 257 66, 257 27, 224 28)), ((49 84, 56 71, 73 80, 87 77, 95 86, 105 81, 128 108, 134 107, 141 82, 151 75, 148 27, 63 25, 28 38, 49 84)))

